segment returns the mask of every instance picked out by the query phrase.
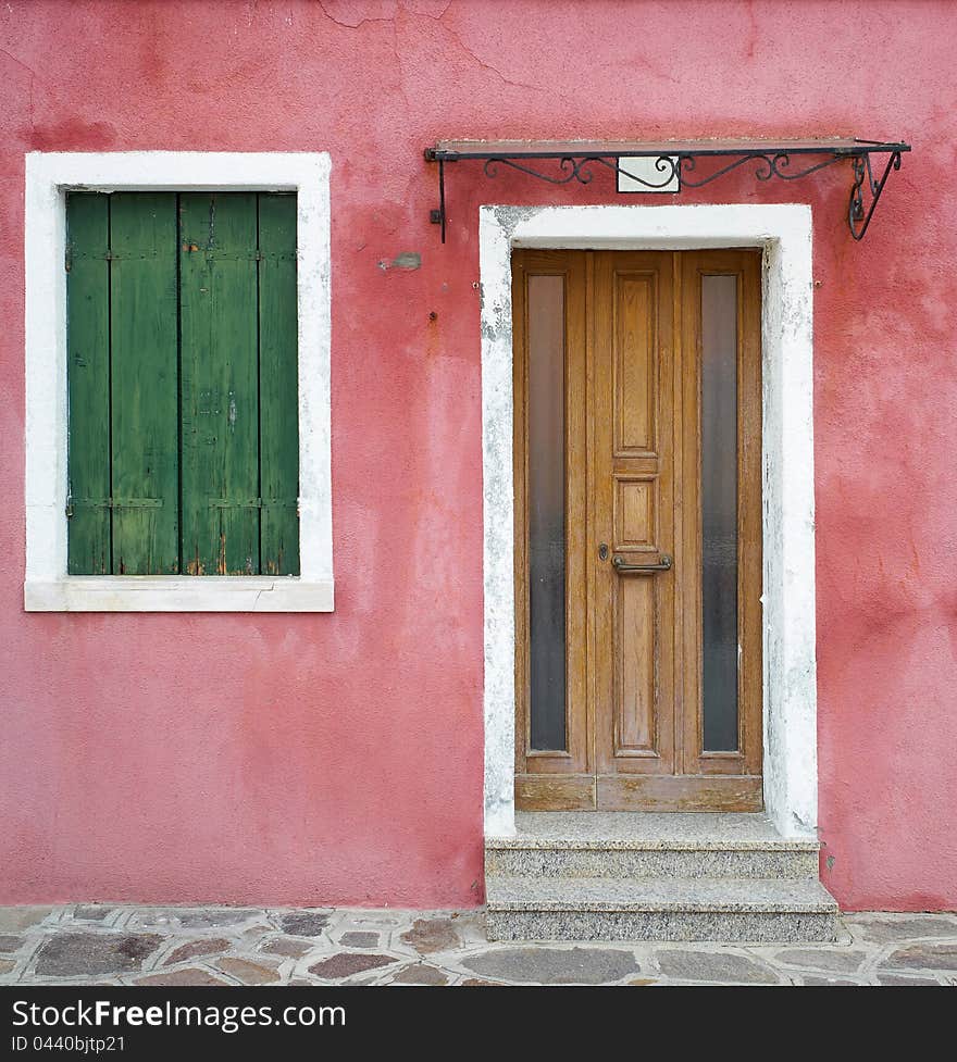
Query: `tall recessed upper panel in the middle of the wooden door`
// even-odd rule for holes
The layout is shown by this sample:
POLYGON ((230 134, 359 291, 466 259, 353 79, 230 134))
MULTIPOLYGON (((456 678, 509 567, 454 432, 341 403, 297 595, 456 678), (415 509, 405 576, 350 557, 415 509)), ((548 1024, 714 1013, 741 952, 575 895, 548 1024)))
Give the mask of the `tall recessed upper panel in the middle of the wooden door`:
MULTIPOLYGON (((667 258, 668 255, 658 255, 667 258)), ((606 258, 607 262, 608 259, 606 258)), ((600 271, 600 265, 599 265, 600 271)), ((599 283, 608 276, 600 271, 599 283)), ((657 324, 656 274, 618 272, 613 285, 614 342, 612 346, 612 386, 614 409, 614 452, 654 452, 658 396, 656 395, 657 324)), ((599 299, 601 296, 599 295, 599 299)), ((607 299, 607 293, 605 293, 607 299)))

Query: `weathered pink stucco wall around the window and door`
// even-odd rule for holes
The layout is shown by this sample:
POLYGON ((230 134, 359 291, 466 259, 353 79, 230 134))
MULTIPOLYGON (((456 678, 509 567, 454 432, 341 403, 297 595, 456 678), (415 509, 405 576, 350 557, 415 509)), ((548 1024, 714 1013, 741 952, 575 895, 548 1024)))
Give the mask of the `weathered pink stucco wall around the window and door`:
POLYGON ((443 247, 422 149, 861 135, 915 146, 862 245, 846 172, 682 201, 812 204, 822 877, 957 907, 955 36, 946 2, 2 4, 0 902, 481 902, 476 209, 617 197, 462 167, 443 247), (22 611, 24 152, 149 148, 332 153, 334 614, 22 611))

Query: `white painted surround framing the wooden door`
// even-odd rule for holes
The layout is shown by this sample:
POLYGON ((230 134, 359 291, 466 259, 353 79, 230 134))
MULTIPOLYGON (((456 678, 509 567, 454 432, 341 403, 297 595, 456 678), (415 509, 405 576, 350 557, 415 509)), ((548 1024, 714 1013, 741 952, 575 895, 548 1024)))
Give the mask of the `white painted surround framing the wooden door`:
POLYGON ((482 207, 485 832, 514 833, 511 249, 762 247, 765 805, 818 814, 811 212, 803 204, 482 207))

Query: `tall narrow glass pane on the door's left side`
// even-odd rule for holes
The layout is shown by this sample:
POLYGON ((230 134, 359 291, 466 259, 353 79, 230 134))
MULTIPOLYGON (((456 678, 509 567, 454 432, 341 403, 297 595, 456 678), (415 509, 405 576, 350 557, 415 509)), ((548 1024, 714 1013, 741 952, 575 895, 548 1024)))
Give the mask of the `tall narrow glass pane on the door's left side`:
POLYGON ((566 749, 564 277, 529 277, 532 748, 566 749))

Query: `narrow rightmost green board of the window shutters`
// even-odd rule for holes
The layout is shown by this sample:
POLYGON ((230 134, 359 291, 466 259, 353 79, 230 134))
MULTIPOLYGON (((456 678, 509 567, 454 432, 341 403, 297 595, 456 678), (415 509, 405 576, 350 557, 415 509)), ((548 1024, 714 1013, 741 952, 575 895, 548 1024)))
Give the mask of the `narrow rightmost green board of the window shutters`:
POLYGON ((264 575, 299 574, 296 197, 259 196, 259 423, 264 575))

